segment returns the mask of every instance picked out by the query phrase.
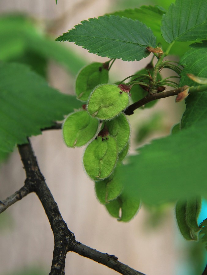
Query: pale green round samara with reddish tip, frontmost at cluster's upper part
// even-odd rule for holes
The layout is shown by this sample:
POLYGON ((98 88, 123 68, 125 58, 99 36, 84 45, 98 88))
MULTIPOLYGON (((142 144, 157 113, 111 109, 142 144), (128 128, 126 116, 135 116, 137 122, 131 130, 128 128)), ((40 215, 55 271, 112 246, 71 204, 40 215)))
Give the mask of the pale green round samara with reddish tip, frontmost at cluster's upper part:
POLYGON ((93 117, 101 120, 118 116, 128 105, 128 93, 120 94, 121 89, 116 84, 97 86, 91 93, 87 111, 93 117))

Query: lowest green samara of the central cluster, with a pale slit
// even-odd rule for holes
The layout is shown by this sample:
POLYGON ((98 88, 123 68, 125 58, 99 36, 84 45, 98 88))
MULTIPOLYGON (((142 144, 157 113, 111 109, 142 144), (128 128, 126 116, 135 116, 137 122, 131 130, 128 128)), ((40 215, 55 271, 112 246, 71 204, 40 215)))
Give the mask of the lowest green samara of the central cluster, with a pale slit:
POLYGON ((139 210, 139 206, 139 199, 136 199, 133 196, 131 197, 123 192, 115 200, 112 200, 109 204, 106 204, 106 209, 110 215, 118 218, 119 221, 128 222, 136 215, 139 210))

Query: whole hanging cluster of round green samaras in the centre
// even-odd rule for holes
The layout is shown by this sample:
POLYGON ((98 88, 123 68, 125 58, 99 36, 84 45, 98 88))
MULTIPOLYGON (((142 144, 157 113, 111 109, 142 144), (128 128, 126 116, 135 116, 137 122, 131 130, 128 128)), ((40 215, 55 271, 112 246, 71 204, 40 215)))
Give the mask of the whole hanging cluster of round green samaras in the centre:
MULTIPOLYGON (((131 94, 127 85, 107 84, 108 77, 107 63, 95 62, 79 72, 76 94, 83 108, 65 119, 63 137, 68 147, 87 145, 83 165, 95 182, 98 200, 113 217, 128 221, 138 211, 140 201, 124 193, 117 168, 123 165, 129 149, 130 126, 123 111, 131 94)), ((142 98, 146 93, 136 86, 135 101, 138 94, 142 98)))

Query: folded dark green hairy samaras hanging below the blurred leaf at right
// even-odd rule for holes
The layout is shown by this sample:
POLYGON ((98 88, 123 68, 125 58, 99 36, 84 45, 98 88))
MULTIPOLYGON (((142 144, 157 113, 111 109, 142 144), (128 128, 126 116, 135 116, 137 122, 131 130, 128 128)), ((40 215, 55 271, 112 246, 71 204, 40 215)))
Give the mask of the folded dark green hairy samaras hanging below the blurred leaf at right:
POLYGON ((201 210, 201 197, 188 199, 187 201, 178 200, 176 204, 176 219, 181 234, 186 240, 198 240, 197 219, 201 210))

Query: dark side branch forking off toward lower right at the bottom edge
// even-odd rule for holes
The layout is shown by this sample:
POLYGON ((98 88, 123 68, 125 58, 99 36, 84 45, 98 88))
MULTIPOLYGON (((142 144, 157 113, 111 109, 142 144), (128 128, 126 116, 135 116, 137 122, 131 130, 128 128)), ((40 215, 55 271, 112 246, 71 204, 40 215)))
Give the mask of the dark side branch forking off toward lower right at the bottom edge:
POLYGON ((73 251, 78 253, 83 257, 87 257, 95 262, 101 263, 109 268, 124 274, 124 275, 145 275, 139 271, 132 269, 131 267, 124 265, 119 262, 116 256, 109 255, 107 253, 99 252, 93 248, 90 248, 84 244, 77 242, 76 246, 73 248, 73 251))

